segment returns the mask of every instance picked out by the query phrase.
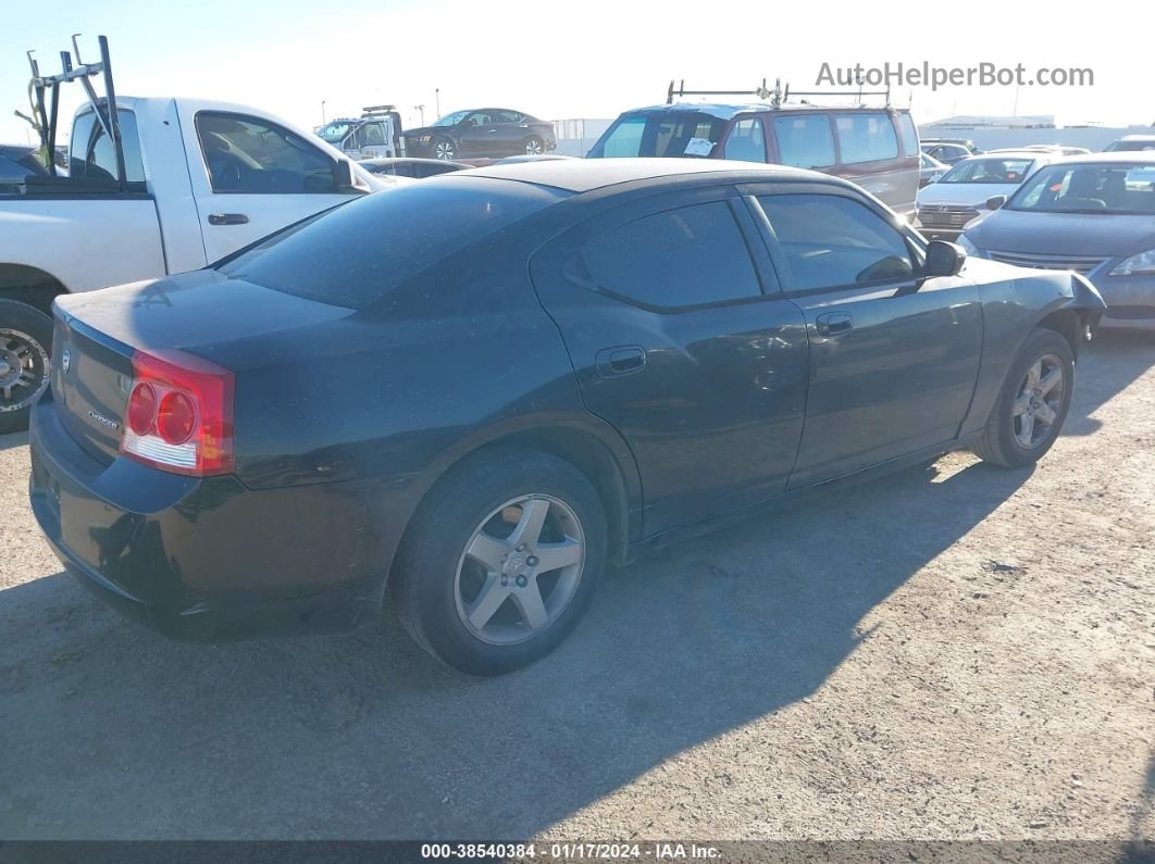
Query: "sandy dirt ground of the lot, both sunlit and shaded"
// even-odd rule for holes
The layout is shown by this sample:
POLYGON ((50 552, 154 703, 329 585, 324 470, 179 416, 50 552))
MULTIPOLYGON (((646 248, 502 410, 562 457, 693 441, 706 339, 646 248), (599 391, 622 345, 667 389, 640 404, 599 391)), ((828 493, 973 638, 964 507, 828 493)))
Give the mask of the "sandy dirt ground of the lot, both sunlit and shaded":
POLYGON ((0 438, 0 837, 1150 836, 1153 365, 1104 336, 1034 472, 954 454, 671 548, 497 681, 392 622, 122 623, 0 438))

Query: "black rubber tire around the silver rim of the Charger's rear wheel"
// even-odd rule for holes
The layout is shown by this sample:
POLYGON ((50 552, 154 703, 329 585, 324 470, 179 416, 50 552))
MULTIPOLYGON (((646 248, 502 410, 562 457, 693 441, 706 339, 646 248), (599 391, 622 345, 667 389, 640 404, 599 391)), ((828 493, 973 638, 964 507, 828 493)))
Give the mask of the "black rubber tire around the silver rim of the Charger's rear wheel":
MULTIPOLYGON (((549 529, 543 529, 543 536, 549 529)), ((536 549, 531 547, 529 555, 532 556, 536 549)), ((405 629, 433 656, 470 675, 504 675, 545 656, 573 631, 593 600, 605 566, 605 511, 597 491, 580 471, 546 453, 492 451, 454 471, 423 503, 394 562, 389 576, 390 595, 405 629), (535 499, 538 502, 554 502, 547 504, 550 508, 560 502, 576 516, 583 558, 578 565, 575 587, 567 588, 568 600, 560 598, 556 617, 551 611, 550 622, 536 633, 528 630, 528 616, 513 625, 500 625, 509 631, 527 628, 527 634, 513 644, 493 644, 467 623, 470 615, 462 604, 465 570, 480 565, 465 554, 465 549, 474 541, 475 532, 493 524, 492 519, 499 519, 498 513, 509 510, 508 506, 502 510, 504 504, 528 495, 541 496, 535 499)), ((489 571, 482 577, 485 585, 497 585, 505 576, 485 566, 480 570, 489 571)), ((553 599, 552 592, 561 587, 562 571, 553 572, 558 580, 549 596, 547 587, 534 588, 546 604, 553 599)), ((542 581, 547 576, 543 572, 542 581)), ((519 585, 522 578, 516 577, 519 585)), ((506 583, 500 584, 505 586, 506 583)), ((537 585, 538 577, 534 576, 532 586, 537 585)), ((508 589, 500 588, 506 600, 495 607, 497 611, 487 621, 498 619, 502 614, 506 621, 521 616, 522 607, 514 602, 514 591, 512 584, 508 589)))

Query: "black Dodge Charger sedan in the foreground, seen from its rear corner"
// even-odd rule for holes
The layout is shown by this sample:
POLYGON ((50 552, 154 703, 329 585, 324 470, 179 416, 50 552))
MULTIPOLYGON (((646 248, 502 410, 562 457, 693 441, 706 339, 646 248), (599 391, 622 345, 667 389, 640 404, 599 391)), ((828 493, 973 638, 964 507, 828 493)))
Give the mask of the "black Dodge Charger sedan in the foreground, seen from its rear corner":
POLYGON ((32 508, 68 571, 172 637, 393 604, 505 673, 609 563, 705 520, 957 448, 1035 463, 1102 309, 807 171, 477 168, 58 298, 32 508))

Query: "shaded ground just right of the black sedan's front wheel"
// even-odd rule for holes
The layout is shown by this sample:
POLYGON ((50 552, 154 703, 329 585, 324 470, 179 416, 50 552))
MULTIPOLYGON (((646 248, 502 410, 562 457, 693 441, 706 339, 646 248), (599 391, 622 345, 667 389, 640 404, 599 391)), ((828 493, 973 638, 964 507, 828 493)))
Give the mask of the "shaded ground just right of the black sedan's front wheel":
POLYGON ((1064 435, 1091 435, 1102 422, 1091 416, 1155 366, 1155 332, 1100 330, 1082 350, 1071 413, 1064 435))

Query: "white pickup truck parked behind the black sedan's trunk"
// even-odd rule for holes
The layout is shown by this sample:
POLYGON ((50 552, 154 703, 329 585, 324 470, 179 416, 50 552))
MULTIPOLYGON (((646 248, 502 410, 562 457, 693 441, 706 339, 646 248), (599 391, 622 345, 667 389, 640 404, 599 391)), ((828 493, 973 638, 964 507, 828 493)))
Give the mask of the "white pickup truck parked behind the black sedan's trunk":
MULTIPOLYGON (((107 105, 107 102, 97 104, 107 105)), ((92 105, 69 178, 0 194, 0 433, 47 386, 52 299, 206 266, 351 196, 375 176, 315 135, 216 102, 118 97, 124 179, 92 105)))

